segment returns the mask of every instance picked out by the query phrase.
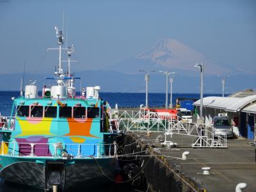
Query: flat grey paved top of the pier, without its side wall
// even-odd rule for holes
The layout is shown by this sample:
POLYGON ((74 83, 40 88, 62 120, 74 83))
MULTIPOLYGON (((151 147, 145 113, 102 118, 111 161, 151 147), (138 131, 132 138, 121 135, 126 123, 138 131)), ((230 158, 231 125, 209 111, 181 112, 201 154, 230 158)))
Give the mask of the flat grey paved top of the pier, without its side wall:
POLYGON ((239 182, 248 185, 244 191, 256 191, 255 147, 249 145, 252 143, 250 140, 230 139, 228 148, 191 148, 195 138, 175 134, 173 138, 168 136, 168 140, 177 142, 179 147, 167 149, 154 142, 154 139, 161 134, 159 132, 154 132, 149 137, 146 132, 136 132, 136 134, 145 138, 145 143, 161 148, 161 153, 170 163, 175 164, 180 172, 199 182, 207 191, 235 191, 239 182), (172 158, 181 157, 184 151, 190 152, 189 160, 172 158), (212 174, 203 175, 201 168, 204 166, 210 166, 212 174))

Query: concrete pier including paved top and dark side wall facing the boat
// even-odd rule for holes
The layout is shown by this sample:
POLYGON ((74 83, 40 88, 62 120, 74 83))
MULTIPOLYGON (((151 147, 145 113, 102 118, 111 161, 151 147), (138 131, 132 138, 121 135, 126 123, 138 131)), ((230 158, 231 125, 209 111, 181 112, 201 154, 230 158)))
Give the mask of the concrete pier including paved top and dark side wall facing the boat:
POLYGON ((137 155, 141 155, 141 168, 150 191, 236 191, 241 182, 247 184, 243 191, 256 191, 255 147, 249 145, 252 141, 237 138, 228 140, 228 148, 191 148, 195 138, 174 135, 167 139, 178 146, 166 148, 155 142, 161 134, 127 132, 129 143, 138 142, 129 145, 125 153, 146 151, 137 155), (182 160, 185 151, 189 156, 182 160), (209 174, 203 174, 203 167, 211 168, 209 174))

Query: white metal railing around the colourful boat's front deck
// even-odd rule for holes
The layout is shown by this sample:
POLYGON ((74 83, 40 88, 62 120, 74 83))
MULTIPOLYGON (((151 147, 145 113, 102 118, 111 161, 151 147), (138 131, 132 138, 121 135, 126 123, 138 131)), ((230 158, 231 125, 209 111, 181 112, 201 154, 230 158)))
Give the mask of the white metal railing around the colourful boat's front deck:
POLYGON ((114 143, 20 143, 1 141, 1 155, 13 157, 47 158, 104 158, 117 157, 117 145, 114 143))

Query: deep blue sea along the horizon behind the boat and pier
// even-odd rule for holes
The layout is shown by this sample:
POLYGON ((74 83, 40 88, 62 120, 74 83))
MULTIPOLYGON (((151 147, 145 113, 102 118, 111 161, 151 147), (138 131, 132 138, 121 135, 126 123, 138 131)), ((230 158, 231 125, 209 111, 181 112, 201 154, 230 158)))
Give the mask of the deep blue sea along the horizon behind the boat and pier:
MULTIPOLYGON (((12 97, 19 97, 20 92, 5 92, 0 91, 0 113, 4 116, 9 116, 12 109, 12 97)), ((40 95, 40 93, 39 93, 40 95)), ((221 94, 204 94, 204 97, 208 96, 221 96, 221 94)), ((118 104, 118 108, 132 108, 139 107, 140 104, 145 105, 145 93, 100 93, 100 97, 103 100, 109 102, 112 108, 115 108, 115 104, 118 104)), ((200 99, 199 93, 173 93, 173 104, 176 103, 176 99, 189 98, 200 99)), ((170 94, 168 95, 168 103, 170 103, 170 94)), ((164 106, 165 93, 148 93, 148 106, 164 106)))

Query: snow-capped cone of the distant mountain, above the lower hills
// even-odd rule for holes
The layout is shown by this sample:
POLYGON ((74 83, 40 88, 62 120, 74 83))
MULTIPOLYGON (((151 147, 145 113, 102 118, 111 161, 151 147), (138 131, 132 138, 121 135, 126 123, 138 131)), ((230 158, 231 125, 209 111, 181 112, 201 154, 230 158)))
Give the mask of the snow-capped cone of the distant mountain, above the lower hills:
POLYGON ((161 38, 154 46, 140 52, 137 56, 116 63, 108 70, 115 70, 126 74, 137 73, 144 70, 170 70, 176 71, 184 76, 195 76, 197 69, 195 63, 204 62, 205 74, 210 76, 244 74, 232 66, 218 63, 195 51, 188 45, 184 45, 172 38, 161 38))

